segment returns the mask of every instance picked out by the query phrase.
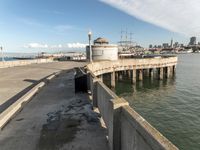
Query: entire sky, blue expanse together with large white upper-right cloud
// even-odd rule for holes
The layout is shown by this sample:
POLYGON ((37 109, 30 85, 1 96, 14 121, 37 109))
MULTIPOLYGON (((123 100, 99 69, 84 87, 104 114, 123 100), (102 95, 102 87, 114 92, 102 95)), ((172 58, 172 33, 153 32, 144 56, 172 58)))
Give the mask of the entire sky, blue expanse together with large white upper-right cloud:
POLYGON ((0 0, 0 46, 5 52, 84 50, 92 38, 120 41, 133 33, 141 46, 187 44, 200 34, 200 0, 0 0))

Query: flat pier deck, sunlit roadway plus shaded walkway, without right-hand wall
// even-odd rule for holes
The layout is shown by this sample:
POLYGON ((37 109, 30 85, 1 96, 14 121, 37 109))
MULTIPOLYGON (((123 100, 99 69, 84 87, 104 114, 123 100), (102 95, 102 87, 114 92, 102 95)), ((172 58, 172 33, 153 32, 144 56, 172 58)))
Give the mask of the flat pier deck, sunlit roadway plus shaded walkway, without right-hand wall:
POLYGON ((0 124, 20 106, 1 128, 0 149, 108 150, 107 131, 92 110, 88 93, 75 93, 74 67, 86 64, 68 61, 0 69, 1 108, 12 99, 1 109, 0 124), (46 86, 29 97, 40 83, 46 86), (28 102, 19 102, 27 96, 28 102))

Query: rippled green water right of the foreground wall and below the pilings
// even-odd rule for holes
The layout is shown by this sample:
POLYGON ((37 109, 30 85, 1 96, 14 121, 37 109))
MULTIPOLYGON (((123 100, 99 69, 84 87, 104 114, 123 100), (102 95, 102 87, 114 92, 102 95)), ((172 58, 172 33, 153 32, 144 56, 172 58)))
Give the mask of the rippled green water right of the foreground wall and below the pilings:
POLYGON ((179 55, 176 77, 146 78, 133 88, 119 81, 115 92, 182 150, 200 150, 200 54, 179 55))

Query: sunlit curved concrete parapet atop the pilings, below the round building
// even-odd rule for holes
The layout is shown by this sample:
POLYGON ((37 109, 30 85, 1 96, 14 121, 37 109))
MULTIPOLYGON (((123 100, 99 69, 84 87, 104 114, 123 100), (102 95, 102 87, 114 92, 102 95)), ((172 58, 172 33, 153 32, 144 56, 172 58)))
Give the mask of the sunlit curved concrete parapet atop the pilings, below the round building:
POLYGON ((161 58, 145 58, 145 59, 120 59, 116 61, 101 61, 88 64, 88 69, 92 71, 95 76, 115 71, 129 70, 129 69, 149 69, 175 66, 177 64, 177 57, 161 57, 161 58))

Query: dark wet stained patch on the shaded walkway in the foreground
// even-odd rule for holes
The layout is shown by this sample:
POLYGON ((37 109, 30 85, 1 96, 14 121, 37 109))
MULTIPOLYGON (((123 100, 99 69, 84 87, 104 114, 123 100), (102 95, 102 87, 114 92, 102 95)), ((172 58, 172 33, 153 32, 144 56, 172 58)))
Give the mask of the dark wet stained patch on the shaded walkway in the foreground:
POLYGON ((73 147, 74 150, 80 147, 108 149, 106 139, 108 133, 101 126, 101 116, 93 110, 87 93, 76 93, 74 100, 68 105, 63 105, 59 110, 48 113, 47 116, 47 123, 43 125, 40 132, 38 150, 65 149, 66 147, 73 147), (95 140, 90 137, 98 138, 96 142, 92 142, 95 140), (82 142, 73 142, 75 138, 82 142))

